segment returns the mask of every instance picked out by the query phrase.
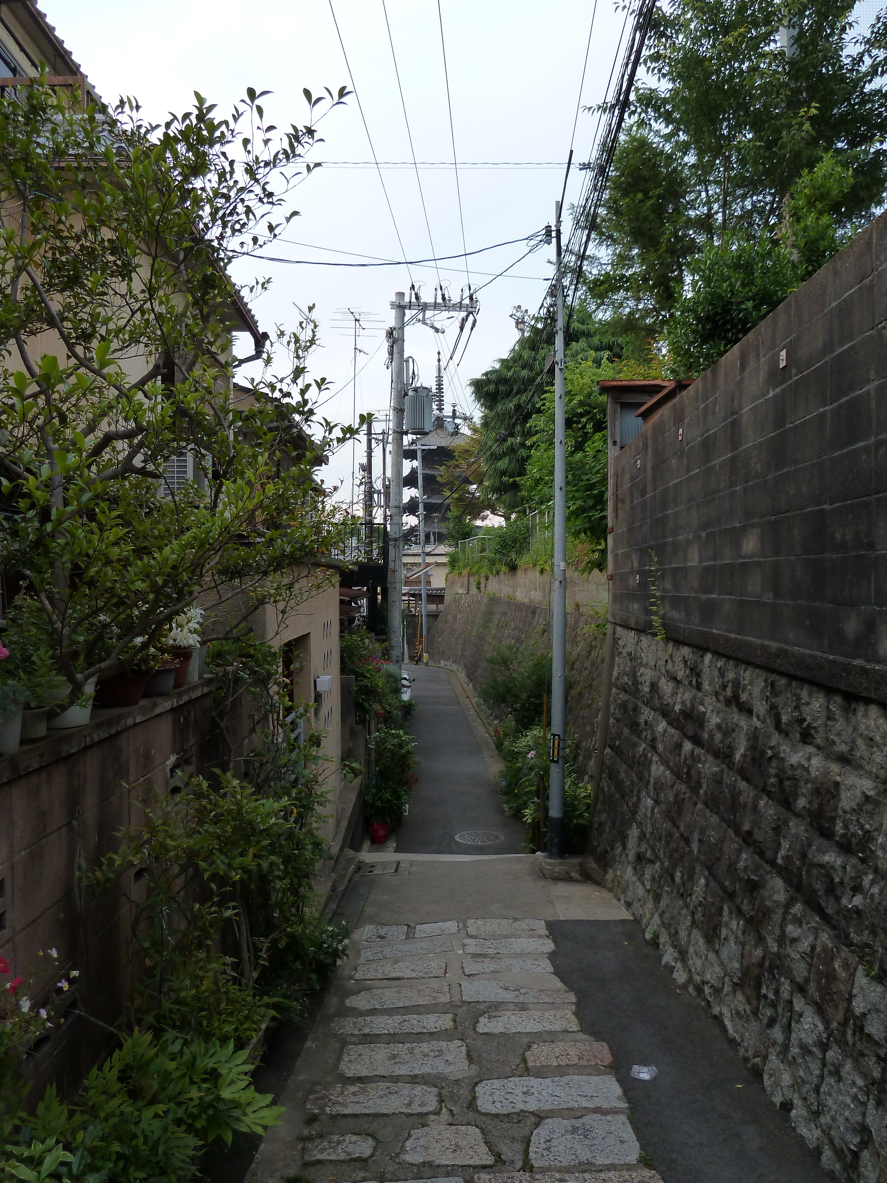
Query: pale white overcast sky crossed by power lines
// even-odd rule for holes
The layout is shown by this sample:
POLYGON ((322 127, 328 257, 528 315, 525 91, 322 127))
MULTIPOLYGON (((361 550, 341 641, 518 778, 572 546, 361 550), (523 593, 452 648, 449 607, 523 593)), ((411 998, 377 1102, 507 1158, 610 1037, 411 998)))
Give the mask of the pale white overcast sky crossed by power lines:
MULTIPOLYGON (((452 161, 438 5, 435 0, 387 0, 387 6, 416 160, 452 161)), ((109 102, 121 93, 134 95, 151 119, 184 109, 195 90, 227 110, 247 86, 254 86, 273 91, 264 102, 274 123, 302 124, 307 111, 303 86, 317 93, 324 85, 336 90, 349 84, 328 0, 264 0, 255 8, 231 0, 153 0, 150 5, 41 0, 40 7, 99 93, 109 102)), ((382 0, 334 0, 334 7, 376 156, 380 162, 409 161, 382 0)), ((588 0, 545 5, 530 0, 442 0, 459 161, 565 163, 593 7, 588 0)), ((623 19, 613 0, 597 0, 583 105, 603 97, 623 19)), ((580 114, 575 161, 588 160, 596 122, 596 116, 580 114)), ((324 121, 323 136, 325 143, 312 154, 316 160, 373 159, 354 97, 324 121)), ((467 248, 523 239, 550 221, 561 195, 563 163, 550 169, 460 169, 467 248)), ((383 169, 382 175, 409 259, 461 251, 452 168, 420 170, 434 252, 412 166, 383 169)), ((581 179, 582 174, 574 169, 568 203, 577 196, 581 179)), ((296 192, 293 203, 300 216, 290 224, 287 239, 341 252, 403 258, 375 168, 321 169, 296 192)), ((470 259, 472 284, 486 283, 490 276, 481 272, 500 271, 524 250, 518 243, 470 259)), ((362 261, 296 243, 278 243, 271 253, 293 259, 362 261)), ((514 267, 513 278, 498 279, 480 293, 478 327, 465 360, 458 375, 453 367, 446 379, 447 411, 454 401, 460 411, 471 409, 468 379, 507 353, 516 340, 509 312, 516 304, 531 310, 538 306, 544 280, 551 273, 550 257, 551 252, 543 248, 514 267), (532 277, 542 277, 542 282, 532 277)), ((465 283, 460 261, 447 263, 451 271, 444 271, 441 265, 441 279, 449 282, 453 297, 459 296, 465 283)), ((415 282, 423 284, 423 296, 432 298, 438 278, 434 267, 412 270, 415 282)), ((352 337, 336 323, 341 319, 337 310, 375 313, 382 322, 378 330, 383 330, 390 323, 394 292, 409 287, 407 269, 245 260, 233 273, 240 283, 257 274, 272 277, 271 291, 254 304, 265 329, 293 323, 298 315, 293 302, 303 308, 316 305, 322 348, 313 355, 312 375, 326 376, 336 392, 323 414, 350 422, 352 337)), ((451 348, 454 338, 454 330, 448 330, 451 348)), ((415 356, 421 380, 429 386, 438 341, 422 328, 407 334, 407 353, 415 356)), ((246 344, 241 342, 241 347, 246 344)), ((358 369, 365 368, 357 376, 357 413, 384 413, 390 371, 384 368, 383 331, 364 335, 358 345, 367 354, 358 355, 358 369)), ((360 460, 360 447, 357 453, 360 460)), ((378 473, 378 455, 374 464, 378 473)), ((332 460, 324 478, 328 485, 343 481, 342 493, 350 499, 350 446, 332 460)))

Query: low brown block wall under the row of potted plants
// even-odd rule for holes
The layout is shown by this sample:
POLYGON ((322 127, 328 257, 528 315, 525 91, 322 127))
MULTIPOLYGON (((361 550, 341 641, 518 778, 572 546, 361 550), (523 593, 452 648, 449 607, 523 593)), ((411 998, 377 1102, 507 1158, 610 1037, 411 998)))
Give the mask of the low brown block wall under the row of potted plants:
MULTIPOLYGON (((35 970, 35 1001, 56 980, 40 950, 54 946, 63 971, 79 970, 65 1023, 26 1060, 34 1103, 52 1080, 63 1092, 76 1088, 112 1046, 101 1024, 121 1017, 134 985, 128 905, 112 891, 84 896, 77 868, 114 851, 117 832, 137 825, 142 806, 182 776, 224 767, 213 685, 95 710, 89 726, 50 732, 0 759, 0 956, 26 980, 35 970)), ((238 696, 226 720, 235 754, 252 732, 248 709, 238 696)))

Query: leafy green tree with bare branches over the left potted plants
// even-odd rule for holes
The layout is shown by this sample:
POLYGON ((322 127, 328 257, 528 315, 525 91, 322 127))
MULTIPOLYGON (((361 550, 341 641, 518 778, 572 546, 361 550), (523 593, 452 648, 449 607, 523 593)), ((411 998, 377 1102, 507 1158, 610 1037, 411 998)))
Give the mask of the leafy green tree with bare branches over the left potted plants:
POLYGON ((235 623, 305 595, 292 568, 329 545, 310 313, 266 348, 251 406, 229 394, 244 310, 225 267, 294 215, 305 93, 310 122, 283 134, 252 90, 227 118, 196 96, 162 127, 132 102, 0 96, 0 565, 76 692, 198 597, 235 623), (196 479, 175 491, 164 465, 186 450, 196 479))

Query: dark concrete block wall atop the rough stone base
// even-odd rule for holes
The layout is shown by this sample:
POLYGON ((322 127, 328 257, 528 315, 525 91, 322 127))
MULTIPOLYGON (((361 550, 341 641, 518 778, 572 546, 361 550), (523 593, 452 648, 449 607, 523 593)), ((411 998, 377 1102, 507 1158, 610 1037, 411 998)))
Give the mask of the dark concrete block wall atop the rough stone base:
POLYGON ((610 467, 611 616, 887 700, 887 214, 610 467))

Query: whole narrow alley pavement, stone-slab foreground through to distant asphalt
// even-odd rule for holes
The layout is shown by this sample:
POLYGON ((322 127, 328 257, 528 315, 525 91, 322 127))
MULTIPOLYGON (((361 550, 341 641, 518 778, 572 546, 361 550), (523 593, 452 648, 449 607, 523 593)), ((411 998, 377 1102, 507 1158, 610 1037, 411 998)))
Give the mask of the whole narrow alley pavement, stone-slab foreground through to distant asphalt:
POLYGON ((479 717, 455 675, 409 668, 414 804, 342 899, 349 958, 250 1183, 824 1181, 620 904, 513 853, 479 717))

